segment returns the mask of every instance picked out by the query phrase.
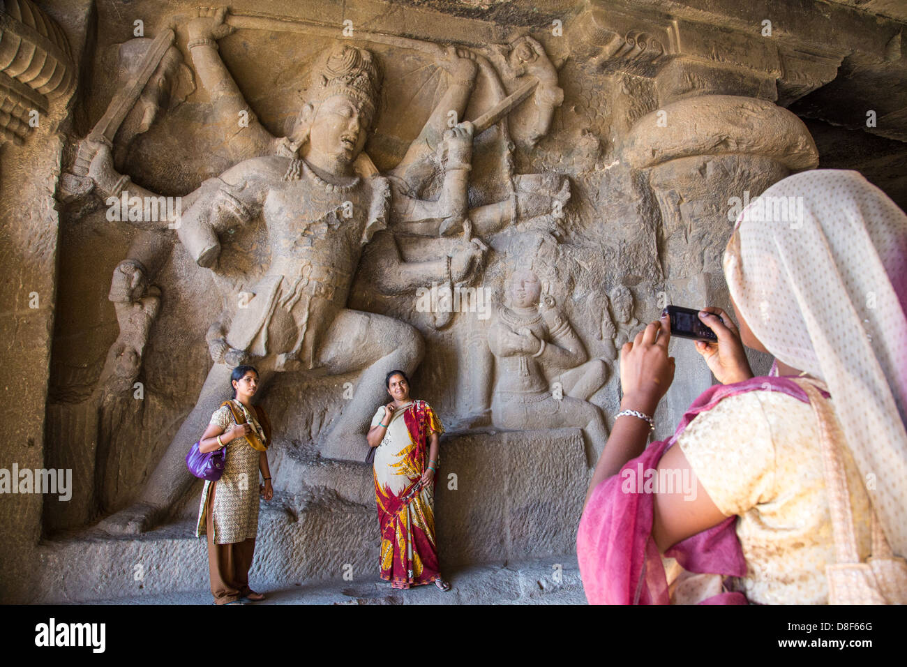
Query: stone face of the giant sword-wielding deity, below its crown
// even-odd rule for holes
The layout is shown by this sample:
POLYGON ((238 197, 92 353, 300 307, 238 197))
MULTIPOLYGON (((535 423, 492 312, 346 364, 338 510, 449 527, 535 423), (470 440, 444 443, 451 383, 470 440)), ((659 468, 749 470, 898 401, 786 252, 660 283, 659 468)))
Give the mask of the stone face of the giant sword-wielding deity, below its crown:
POLYGON ((370 119, 361 104, 346 95, 327 97, 314 110, 308 136, 309 162, 346 171, 366 146, 370 119))

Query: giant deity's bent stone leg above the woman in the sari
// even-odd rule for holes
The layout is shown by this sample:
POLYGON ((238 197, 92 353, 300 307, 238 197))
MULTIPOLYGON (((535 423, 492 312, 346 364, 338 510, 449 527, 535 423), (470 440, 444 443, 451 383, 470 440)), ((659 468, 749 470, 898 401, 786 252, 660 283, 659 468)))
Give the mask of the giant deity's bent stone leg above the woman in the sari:
MULTIPOLYGON (((397 319, 344 309, 328 329, 318 350, 318 365, 332 375, 364 368, 352 400, 320 443, 321 456, 361 461, 366 431, 378 406, 390 400, 385 375, 403 370, 412 375, 424 355, 422 336, 397 319)), ((414 389, 418 396, 418 387, 414 389)))

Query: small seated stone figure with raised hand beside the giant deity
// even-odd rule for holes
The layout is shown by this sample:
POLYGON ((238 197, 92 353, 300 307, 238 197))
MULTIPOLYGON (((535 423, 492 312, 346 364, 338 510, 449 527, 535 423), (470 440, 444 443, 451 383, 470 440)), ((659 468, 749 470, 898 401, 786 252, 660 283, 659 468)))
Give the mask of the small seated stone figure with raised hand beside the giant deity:
POLYGON ((514 271, 507 283, 511 306, 497 313, 488 336, 497 373, 492 399, 492 423, 499 428, 580 427, 590 463, 608 437, 599 407, 585 397, 604 383, 600 359, 587 362, 586 350, 570 322, 546 295, 539 307, 541 282, 531 270, 514 271), (546 375, 556 377, 561 387, 546 375), (569 387, 585 396, 574 397, 569 387))

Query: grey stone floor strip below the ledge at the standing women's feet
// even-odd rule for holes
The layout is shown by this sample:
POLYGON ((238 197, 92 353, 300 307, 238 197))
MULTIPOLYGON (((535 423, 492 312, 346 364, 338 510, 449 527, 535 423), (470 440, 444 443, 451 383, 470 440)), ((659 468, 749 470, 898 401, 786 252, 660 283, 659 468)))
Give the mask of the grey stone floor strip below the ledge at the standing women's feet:
MULTIPOLYGON (((433 585, 394 590, 381 580, 310 582, 279 590, 261 586, 258 604, 585 604, 575 555, 532 563, 479 565, 447 574, 451 590, 433 585)), ((205 588, 188 593, 142 595, 93 604, 210 604, 205 588)))

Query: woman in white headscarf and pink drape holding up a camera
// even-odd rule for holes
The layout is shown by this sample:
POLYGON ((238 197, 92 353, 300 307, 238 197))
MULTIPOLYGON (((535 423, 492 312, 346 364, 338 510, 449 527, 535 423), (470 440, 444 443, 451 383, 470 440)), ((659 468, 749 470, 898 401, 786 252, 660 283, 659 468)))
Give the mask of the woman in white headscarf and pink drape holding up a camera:
POLYGON ((621 410, 577 537, 590 603, 828 602, 834 531, 808 385, 833 409, 859 561, 871 518, 907 554, 907 216, 857 172, 796 174, 762 197, 798 201, 799 217, 771 220, 758 199, 741 212, 724 258, 739 329, 707 308, 718 340, 696 343, 722 384, 648 448, 674 377, 668 320, 621 349, 621 410), (773 354, 772 375, 753 377, 744 344, 773 354), (669 476, 687 484, 665 488, 669 476))

